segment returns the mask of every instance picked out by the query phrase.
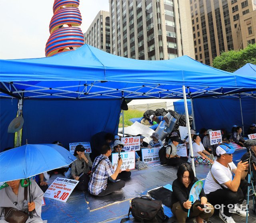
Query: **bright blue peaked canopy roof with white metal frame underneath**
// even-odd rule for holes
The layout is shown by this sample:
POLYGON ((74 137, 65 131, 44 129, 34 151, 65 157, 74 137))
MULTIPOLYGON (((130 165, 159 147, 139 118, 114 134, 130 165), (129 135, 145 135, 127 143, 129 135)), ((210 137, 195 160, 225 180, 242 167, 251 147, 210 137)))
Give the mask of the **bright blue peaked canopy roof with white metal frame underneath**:
POLYGON ((183 98, 250 91, 256 77, 229 73, 188 56, 166 61, 119 57, 88 44, 52 57, 0 60, 0 96, 183 98))

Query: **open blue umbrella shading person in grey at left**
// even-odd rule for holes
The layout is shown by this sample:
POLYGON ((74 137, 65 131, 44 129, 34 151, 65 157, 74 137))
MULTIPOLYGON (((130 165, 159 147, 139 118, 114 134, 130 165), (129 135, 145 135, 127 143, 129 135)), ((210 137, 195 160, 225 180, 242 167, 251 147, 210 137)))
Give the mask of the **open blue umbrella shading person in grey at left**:
POLYGON ((26 144, 0 153, 0 182, 30 178, 70 165, 76 157, 55 144, 26 144))

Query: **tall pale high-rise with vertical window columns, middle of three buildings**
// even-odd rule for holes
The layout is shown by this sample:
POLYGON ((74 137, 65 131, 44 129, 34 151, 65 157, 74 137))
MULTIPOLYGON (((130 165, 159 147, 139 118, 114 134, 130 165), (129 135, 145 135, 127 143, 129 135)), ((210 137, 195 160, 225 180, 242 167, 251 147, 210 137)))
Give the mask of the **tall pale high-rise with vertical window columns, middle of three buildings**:
POLYGON ((194 58, 189 2, 109 0, 111 53, 146 60, 194 58))

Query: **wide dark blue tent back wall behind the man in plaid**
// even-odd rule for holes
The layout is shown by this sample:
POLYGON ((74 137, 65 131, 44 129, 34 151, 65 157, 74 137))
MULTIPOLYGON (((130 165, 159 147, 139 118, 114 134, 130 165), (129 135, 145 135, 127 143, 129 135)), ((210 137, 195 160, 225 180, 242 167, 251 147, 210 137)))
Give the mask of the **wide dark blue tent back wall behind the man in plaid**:
POLYGON ((120 99, 29 99, 23 101, 22 144, 89 142, 92 135, 118 132, 120 99))

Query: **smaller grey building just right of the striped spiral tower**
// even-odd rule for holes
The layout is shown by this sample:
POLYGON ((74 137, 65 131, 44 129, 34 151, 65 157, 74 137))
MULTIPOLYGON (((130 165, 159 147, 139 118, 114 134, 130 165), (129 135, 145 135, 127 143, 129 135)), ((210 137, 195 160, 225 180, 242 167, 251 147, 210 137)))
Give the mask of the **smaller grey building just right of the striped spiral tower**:
POLYGON ((84 34, 85 43, 110 53, 109 12, 100 11, 84 34))

